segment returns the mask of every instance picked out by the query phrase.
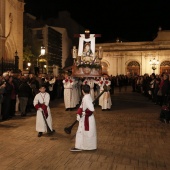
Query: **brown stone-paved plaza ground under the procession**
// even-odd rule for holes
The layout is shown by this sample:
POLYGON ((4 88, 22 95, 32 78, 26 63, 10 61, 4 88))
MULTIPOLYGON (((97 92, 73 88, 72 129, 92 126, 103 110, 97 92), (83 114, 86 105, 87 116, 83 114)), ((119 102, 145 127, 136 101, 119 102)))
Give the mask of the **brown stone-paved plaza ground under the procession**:
POLYGON ((112 95, 111 111, 95 107, 98 149, 70 152, 76 111, 65 111, 63 99, 51 103, 52 136, 37 137, 35 113, 0 122, 0 170, 170 170, 170 124, 158 120, 160 106, 138 93, 112 95))

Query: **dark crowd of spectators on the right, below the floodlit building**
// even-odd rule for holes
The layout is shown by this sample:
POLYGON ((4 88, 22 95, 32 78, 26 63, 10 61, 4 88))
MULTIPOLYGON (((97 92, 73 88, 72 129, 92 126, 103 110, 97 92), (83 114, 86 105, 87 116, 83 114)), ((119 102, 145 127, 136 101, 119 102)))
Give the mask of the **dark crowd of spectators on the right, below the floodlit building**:
POLYGON ((170 77, 166 73, 156 75, 155 73, 144 75, 117 75, 110 76, 112 94, 114 87, 118 87, 119 92, 127 90, 131 86, 132 92, 143 94, 156 105, 166 105, 170 101, 170 77))

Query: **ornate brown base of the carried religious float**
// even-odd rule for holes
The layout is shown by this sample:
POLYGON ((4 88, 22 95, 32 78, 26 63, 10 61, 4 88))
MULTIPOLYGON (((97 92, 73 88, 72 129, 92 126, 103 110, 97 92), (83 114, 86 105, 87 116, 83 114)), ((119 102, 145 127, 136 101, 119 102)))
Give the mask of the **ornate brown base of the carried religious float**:
POLYGON ((101 77, 102 69, 101 68, 91 68, 91 67, 72 67, 72 76, 73 77, 101 77))

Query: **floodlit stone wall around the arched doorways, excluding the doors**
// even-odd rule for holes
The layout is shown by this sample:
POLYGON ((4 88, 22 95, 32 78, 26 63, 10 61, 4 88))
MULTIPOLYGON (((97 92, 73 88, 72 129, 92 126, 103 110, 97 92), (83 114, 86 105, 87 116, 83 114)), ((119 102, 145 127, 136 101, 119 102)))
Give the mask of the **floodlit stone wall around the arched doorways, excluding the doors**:
POLYGON ((132 61, 139 63, 140 75, 153 72, 160 74, 161 63, 170 61, 170 41, 167 41, 167 39, 163 41, 162 38, 162 41, 154 40, 153 42, 103 43, 96 44, 96 49, 100 46, 103 48, 102 62, 107 64, 109 75, 126 75, 128 73, 128 64, 132 61), (152 65, 149 63, 154 58, 159 60, 155 71, 152 70, 152 65))

